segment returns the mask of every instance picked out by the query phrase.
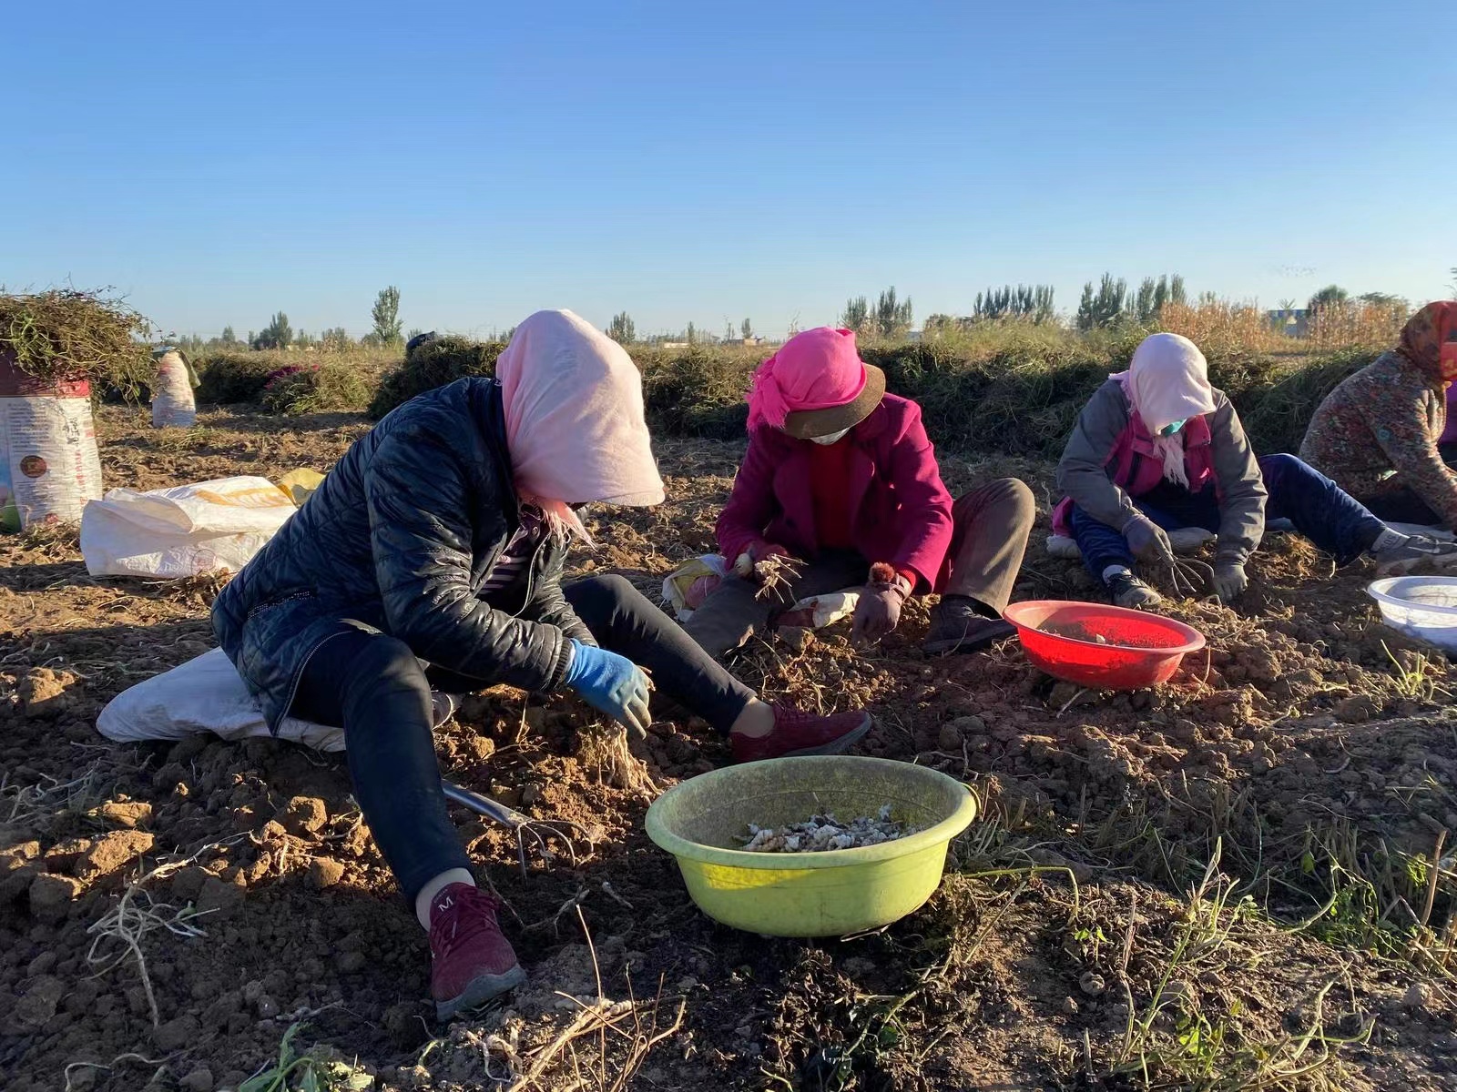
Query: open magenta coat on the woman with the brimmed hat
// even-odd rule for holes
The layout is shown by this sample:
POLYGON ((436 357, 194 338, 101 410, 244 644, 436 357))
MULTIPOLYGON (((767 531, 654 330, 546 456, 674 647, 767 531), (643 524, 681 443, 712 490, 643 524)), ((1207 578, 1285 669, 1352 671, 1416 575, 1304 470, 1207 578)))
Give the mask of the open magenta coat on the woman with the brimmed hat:
MULTIPOLYGON (((915 572, 916 591, 944 579, 951 545, 951 495, 941 483, 921 408, 886 395, 841 443, 854 446, 845 499, 851 539, 868 562, 915 572)), ((761 425, 718 517, 718 549, 731 562, 755 542, 800 558, 819 553, 810 491, 809 440, 761 425)))

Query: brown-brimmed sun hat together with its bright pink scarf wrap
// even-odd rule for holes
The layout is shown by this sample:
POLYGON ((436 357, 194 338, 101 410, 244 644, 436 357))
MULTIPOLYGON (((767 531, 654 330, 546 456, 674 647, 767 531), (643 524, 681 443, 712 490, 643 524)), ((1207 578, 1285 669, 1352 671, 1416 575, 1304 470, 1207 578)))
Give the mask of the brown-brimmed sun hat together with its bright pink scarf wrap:
POLYGON ((817 326, 796 333, 753 373, 749 428, 781 428, 813 440, 854 428, 886 396, 886 373, 865 364, 854 331, 817 326))

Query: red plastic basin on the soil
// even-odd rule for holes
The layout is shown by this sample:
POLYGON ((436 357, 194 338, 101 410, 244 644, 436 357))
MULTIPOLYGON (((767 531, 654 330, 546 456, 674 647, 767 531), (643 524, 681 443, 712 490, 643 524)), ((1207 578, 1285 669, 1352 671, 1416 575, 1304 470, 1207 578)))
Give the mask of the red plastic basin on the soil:
POLYGON ((1100 603, 1030 600, 1013 603, 1005 617, 1017 626, 1027 660, 1049 676, 1100 690, 1167 683, 1205 644, 1203 633, 1183 622, 1100 603))

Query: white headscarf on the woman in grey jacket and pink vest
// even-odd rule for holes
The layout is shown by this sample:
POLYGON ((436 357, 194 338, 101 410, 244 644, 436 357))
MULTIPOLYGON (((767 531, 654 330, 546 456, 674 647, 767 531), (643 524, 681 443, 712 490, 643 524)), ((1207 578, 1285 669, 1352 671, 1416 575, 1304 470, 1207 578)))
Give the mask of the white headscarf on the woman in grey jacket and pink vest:
POLYGON ((1128 371, 1112 376, 1154 438, 1164 460, 1164 478, 1187 488, 1183 432, 1161 435, 1176 421, 1189 421, 1214 412, 1214 387, 1209 386, 1209 361, 1179 333, 1154 333, 1134 349, 1128 371))

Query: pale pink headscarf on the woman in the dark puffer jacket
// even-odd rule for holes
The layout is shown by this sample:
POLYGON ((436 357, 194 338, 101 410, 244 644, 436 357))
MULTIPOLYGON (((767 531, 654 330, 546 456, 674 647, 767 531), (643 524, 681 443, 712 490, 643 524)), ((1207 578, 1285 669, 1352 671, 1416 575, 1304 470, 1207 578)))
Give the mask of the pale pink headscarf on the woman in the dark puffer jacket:
POLYGON ((571 312, 536 312, 495 361, 506 444, 523 501, 589 540, 573 504, 663 502, 643 416, 643 376, 627 351, 571 312))

